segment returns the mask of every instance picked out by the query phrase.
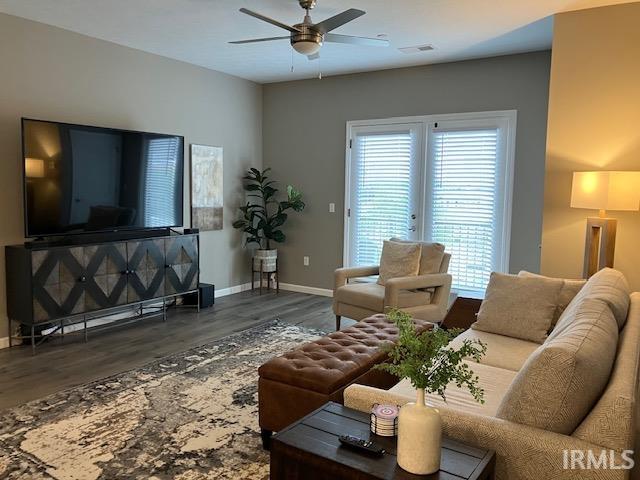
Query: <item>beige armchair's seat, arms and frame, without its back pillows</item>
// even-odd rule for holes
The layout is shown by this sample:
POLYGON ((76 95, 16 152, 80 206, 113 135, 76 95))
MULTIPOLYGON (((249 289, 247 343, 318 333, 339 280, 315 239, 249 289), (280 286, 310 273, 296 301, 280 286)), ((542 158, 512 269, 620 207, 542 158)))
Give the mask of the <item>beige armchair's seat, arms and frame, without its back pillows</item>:
POLYGON ((336 330, 344 316, 362 320, 389 307, 401 308, 415 318, 440 323, 447 314, 451 275, 447 273, 451 255, 445 253, 439 273, 392 278, 385 285, 375 282, 354 282, 355 278, 380 273, 379 266, 338 268, 333 288, 333 313, 336 330))

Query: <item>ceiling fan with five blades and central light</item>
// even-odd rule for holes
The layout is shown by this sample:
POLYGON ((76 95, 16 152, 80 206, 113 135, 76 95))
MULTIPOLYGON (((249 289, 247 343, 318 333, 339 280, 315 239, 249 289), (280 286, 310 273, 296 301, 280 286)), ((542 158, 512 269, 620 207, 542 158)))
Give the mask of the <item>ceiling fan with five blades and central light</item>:
POLYGON ((302 55, 306 55, 309 60, 315 60, 318 58, 320 48, 322 48, 322 44, 324 42, 331 43, 349 43, 352 45, 364 45, 364 46, 379 46, 379 47, 387 47, 389 46, 389 42, 387 40, 382 40, 379 38, 366 38, 366 37, 353 37, 349 35, 338 35, 335 33, 330 33, 332 30, 344 25, 345 23, 349 23, 352 20, 355 20, 358 17, 361 17, 366 12, 362 10, 358 10, 356 8, 350 8, 349 10, 345 10, 338 15, 335 15, 331 18, 327 18, 320 23, 313 23, 311 21, 311 16, 309 15, 309 11, 312 10, 316 6, 317 0, 298 0, 300 6, 306 11, 304 16, 304 20, 302 23, 297 23, 295 25, 289 26, 285 23, 279 22, 272 18, 266 17, 260 13, 253 12, 246 8, 241 8, 240 11, 247 15, 257 18, 258 20, 262 20, 263 22, 270 23, 275 25, 276 27, 283 28, 289 31, 288 36, 283 37, 269 37, 269 38, 256 38, 252 40, 239 40, 235 42, 229 42, 234 44, 243 44, 243 43, 255 43, 255 42, 270 42, 272 40, 284 40, 289 39, 291 42, 291 46, 293 49, 301 53, 302 55))

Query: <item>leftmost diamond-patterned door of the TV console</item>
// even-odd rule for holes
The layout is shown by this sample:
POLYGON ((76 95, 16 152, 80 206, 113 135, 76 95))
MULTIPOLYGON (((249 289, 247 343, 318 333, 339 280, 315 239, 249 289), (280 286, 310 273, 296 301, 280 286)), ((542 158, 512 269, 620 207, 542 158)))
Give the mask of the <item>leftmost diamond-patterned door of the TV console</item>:
POLYGON ((34 322, 84 311, 86 272, 83 247, 34 251, 31 254, 31 275, 34 322))

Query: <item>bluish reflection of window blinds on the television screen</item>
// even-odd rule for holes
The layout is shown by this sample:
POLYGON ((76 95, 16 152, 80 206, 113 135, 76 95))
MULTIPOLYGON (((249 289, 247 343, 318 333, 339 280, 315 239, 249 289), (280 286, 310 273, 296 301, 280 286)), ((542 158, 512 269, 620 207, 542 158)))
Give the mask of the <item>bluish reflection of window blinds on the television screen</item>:
POLYGON ((147 146, 144 217, 147 226, 175 225, 173 209, 176 204, 175 178, 178 168, 177 138, 153 138, 147 146))

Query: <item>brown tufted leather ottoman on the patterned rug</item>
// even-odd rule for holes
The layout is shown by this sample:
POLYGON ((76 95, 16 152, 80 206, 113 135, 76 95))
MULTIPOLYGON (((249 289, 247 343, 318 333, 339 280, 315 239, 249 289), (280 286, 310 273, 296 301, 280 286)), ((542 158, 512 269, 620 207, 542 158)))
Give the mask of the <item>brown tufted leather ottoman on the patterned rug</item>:
MULTIPOLYGON (((415 320, 419 330, 432 324, 415 320)), ((258 399, 262 441, 268 448, 279 431, 328 401, 343 403, 342 392, 352 383, 388 389, 394 376, 372 370, 385 360, 384 342, 394 342, 396 326, 384 315, 366 318, 352 327, 306 343, 258 369, 258 399)))

